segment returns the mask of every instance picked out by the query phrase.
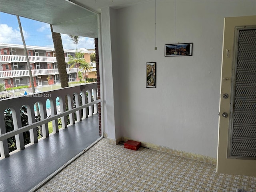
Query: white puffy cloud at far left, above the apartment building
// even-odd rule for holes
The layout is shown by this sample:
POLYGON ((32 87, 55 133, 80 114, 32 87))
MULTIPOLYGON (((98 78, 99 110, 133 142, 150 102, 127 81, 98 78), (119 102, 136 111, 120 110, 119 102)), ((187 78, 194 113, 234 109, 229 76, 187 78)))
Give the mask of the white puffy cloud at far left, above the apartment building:
MULTIPOLYGON (((13 29, 7 24, 0 24, 0 42, 1 43, 11 43, 11 44, 22 44, 22 39, 20 35, 20 29, 13 29)), ((24 38, 26 39, 27 32, 22 28, 24 38)))

